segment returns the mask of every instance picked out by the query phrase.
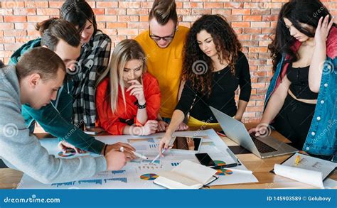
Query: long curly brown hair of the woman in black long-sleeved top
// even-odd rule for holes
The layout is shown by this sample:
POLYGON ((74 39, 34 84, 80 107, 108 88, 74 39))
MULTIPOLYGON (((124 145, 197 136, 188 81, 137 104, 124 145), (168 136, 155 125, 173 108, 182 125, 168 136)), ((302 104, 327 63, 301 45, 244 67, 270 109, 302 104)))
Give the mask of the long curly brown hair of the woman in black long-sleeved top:
POLYGON ((193 89, 198 89, 202 94, 209 96, 213 80, 213 62, 208 55, 200 50, 196 38, 197 34, 203 30, 212 36, 220 63, 223 63, 223 60, 228 62, 232 75, 235 75, 235 62, 237 62, 238 52, 242 45, 237 39, 235 31, 223 16, 203 15, 193 23, 184 45, 182 78, 185 81, 191 80, 193 89), (205 67, 209 69, 201 75, 196 73, 198 69, 193 69, 200 61, 205 62, 207 65, 205 67))

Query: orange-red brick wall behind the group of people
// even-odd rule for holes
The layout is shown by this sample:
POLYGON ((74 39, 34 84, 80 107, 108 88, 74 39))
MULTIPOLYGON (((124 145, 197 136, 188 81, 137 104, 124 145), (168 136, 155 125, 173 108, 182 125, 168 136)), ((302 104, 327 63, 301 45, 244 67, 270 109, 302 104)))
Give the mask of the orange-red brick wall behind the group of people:
MULTIPOLYGON (((269 34, 276 24, 277 14, 288 0, 176 0, 181 25, 191 26, 203 13, 219 13, 230 21, 244 46, 250 61, 252 97, 245 112, 245 121, 260 119, 264 96, 272 76, 267 51, 269 34)), ((310 0, 308 0, 310 1, 310 0)), ((133 38, 148 28, 151 0, 89 1, 95 8, 98 28, 118 43, 133 38)), ((1 1, 0 60, 8 62, 11 54, 26 41, 38 37, 34 24, 51 16, 58 16, 63 1, 1 1)), ((323 0, 335 18, 337 0, 323 0)))

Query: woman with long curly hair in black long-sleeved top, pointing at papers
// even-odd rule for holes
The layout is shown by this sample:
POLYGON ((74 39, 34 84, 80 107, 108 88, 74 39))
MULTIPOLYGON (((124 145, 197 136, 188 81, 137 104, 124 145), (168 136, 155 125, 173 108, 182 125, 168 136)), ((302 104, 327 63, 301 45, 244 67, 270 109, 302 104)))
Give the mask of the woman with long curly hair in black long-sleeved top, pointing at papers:
POLYGON ((252 87, 248 61, 240 50, 235 31, 222 16, 203 15, 193 24, 184 45, 186 83, 160 148, 168 148, 172 133, 187 114, 188 126, 218 126, 208 106, 241 121, 252 87), (235 90, 239 86, 236 106, 235 90))

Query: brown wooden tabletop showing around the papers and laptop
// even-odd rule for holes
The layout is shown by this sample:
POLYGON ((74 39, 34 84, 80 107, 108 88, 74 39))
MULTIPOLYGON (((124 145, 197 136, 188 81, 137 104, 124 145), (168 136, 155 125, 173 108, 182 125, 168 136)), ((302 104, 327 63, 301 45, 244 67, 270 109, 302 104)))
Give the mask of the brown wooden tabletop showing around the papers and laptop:
MULTIPOLYGON (((254 124, 247 124, 247 128, 254 126, 254 124)), ((272 132, 272 136, 289 143, 287 138, 284 138, 281 134, 276 131, 272 132)), ((48 134, 39 134, 39 138, 50 137, 48 134)), ((229 138, 223 137, 223 141, 228 146, 237 146, 237 143, 234 143, 229 138)), ((275 163, 282 163, 284 160, 289 158, 290 155, 282 155, 273 158, 260 159, 252 153, 248 154, 239 154, 237 157, 240 161, 249 169, 252 170, 255 177, 259 182, 253 183, 244 183, 244 184, 235 184, 235 185, 218 185, 211 186, 212 189, 313 189, 310 185, 306 185, 301 182, 297 182, 286 177, 281 177, 279 175, 274 175, 269 173, 270 170, 274 168, 275 163)), ((20 182, 23 173, 18 170, 12 170, 9 168, 0 169, 0 189, 15 189, 20 182)), ((337 180, 337 171, 335 171, 330 176, 331 179, 337 180)))

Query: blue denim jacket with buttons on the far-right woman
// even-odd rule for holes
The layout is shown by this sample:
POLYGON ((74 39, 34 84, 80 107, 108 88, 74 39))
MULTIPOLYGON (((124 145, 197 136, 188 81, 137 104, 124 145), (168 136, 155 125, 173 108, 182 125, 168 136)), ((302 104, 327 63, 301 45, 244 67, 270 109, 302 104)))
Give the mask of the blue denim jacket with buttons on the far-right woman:
MULTIPOLYGON (((336 47, 336 44, 335 44, 336 47)), ((337 50, 337 48, 333 48, 337 50)), ((336 52, 335 52, 336 53, 336 52)), ((319 97, 311 121, 308 135, 303 150, 315 155, 335 155, 337 157, 337 58, 332 56, 326 58, 323 66, 319 97)), ((284 67, 286 55, 277 64, 277 70, 270 81, 264 107, 277 87, 277 80, 284 67)), ((282 73, 283 74, 283 73, 282 73)))

